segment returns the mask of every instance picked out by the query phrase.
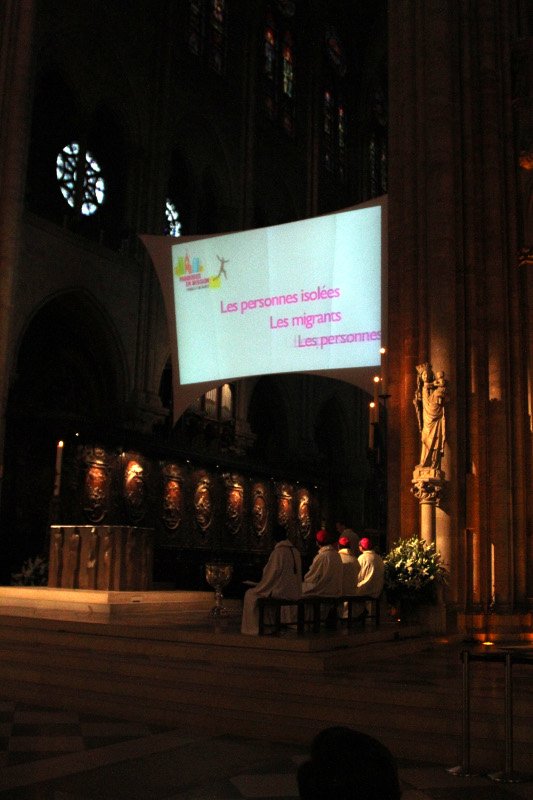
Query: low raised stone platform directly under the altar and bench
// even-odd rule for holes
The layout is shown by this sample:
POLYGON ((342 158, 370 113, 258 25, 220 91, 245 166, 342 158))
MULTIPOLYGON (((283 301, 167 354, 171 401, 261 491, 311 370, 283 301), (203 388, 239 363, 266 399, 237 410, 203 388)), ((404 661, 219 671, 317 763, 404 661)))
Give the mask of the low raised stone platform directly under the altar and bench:
MULTIPOLYGON (((378 645, 395 643, 396 652, 421 646, 427 631, 420 625, 402 625, 385 620, 379 628, 371 622, 356 625, 351 630, 339 623, 337 630, 322 628, 320 633, 306 631, 297 635, 290 626, 281 635, 244 636, 240 632, 242 601, 224 599, 226 615, 213 618, 214 593, 200 591, 107 591, 91 589, 60 589, 50 587, 0 587, 0 627, 50 635, 79 634, 106 638, 120 637, 133 642, 166 643, 167 647, 181 645, 189 652, 195 648, 217 648, 220 662, 232 663, 246 652, 246 661, 287 665, 290 653, 300 656, 294 667, 314 672, 341 668, 355 663, 361 647, 373 649, 378 645), (254 653, 261 655, 254 656, 254 653)), ((96 646, 96 645, 95 645, 96 646)), ((125 646, 125 645, 124 645, 125 646)))

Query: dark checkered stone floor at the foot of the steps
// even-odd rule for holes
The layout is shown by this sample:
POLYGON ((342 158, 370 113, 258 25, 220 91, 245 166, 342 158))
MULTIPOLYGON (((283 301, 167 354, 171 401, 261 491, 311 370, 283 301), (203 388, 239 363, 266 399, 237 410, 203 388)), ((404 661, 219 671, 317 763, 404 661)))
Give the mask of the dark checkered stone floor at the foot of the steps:
MULTIPOLYGON (((0 701, 0 800, 295 800, 305 758, 298 746, 0 701)), ((403 800, 533 799, 533 781, 399 768, 403 800)))

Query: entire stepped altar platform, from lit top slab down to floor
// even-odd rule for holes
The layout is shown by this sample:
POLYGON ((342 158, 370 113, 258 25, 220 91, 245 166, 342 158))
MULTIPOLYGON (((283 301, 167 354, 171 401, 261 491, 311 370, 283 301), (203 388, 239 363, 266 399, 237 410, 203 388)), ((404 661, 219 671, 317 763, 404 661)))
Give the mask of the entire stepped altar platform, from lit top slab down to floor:
MULTIPOLYGON (((349 631, 243 636, 241 603, 212 592, 0 590, 1 696, 15 704, 306 745, 329 725, 398 758, 460 763, 460 654, 478 643, 384 620, 349 631)), ((531 666, 514 672, 516 769, 533 764, 531 666)), ((502 768, 503 668, 472 669, 472 762, 502 768)))

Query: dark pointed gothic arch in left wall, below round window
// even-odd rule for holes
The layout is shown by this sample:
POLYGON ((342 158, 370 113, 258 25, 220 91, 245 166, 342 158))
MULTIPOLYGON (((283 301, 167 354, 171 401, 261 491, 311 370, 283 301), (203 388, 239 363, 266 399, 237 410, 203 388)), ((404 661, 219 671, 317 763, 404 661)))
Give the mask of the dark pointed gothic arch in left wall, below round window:
POLYGON ((112 327, 83 292, 49 298, 20 336, 6 413, 0 578, 46 554, 58 440, 110 430, 125 398, 124 356, 112 327), (16 539, 9 532, 16 531, 16 539))

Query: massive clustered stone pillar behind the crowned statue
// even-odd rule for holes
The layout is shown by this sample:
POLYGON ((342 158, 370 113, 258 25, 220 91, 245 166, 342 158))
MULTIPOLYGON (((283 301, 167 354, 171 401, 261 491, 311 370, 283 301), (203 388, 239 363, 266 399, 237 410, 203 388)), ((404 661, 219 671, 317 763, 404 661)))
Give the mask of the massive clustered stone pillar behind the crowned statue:
POLYGON ((482 603, 494 545, 502 611, 526 601, 531 491, 511 92, 518 5, 389 4, 389 525, 404 537, 433 535, 434 525, 452 603, 466 584, 465 530, 482 603), (426 360, 453 387, 434 520, 409 491, 418 459, 410 376, 426 360))

